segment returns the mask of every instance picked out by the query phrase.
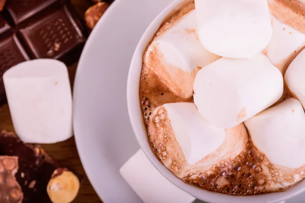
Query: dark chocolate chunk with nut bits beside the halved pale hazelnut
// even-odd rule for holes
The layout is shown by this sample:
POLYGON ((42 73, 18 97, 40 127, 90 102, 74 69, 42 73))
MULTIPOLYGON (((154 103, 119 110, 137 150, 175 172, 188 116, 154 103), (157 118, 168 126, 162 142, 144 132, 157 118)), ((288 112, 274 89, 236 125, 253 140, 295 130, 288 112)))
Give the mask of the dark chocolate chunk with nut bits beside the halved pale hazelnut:
MULTIPOLYGON (((0 155, 18 156, 16 179, 23 192, 23 203, 52 202, 47 193, 47 185, 60 164, 50 158, 40 145, 24 144, 14 133, 2 131, 0 155)), ((77 178, 81 182, 81 177, 77 178)))

